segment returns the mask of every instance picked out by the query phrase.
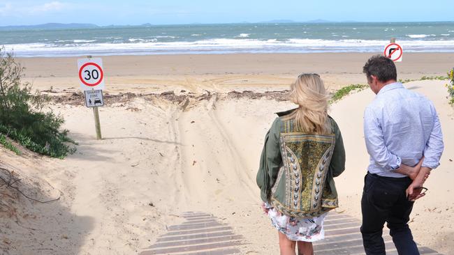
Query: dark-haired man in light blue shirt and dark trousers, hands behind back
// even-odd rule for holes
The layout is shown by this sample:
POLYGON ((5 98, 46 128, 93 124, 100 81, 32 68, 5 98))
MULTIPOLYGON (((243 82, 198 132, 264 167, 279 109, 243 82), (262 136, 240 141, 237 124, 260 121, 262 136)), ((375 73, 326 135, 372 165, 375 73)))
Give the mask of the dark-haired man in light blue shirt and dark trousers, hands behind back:
POLYGON ((364 114, 370 155, 361 199, 365 252, 386 254, 381 235, 387 222, 397 252, 419 254, 408 222, 413 202, 424 195, 421 187, 443 152, 437 111, 423 95, 396 82, 395 64, 387 57, 372 56, 363 72, 376 93, 364 114))

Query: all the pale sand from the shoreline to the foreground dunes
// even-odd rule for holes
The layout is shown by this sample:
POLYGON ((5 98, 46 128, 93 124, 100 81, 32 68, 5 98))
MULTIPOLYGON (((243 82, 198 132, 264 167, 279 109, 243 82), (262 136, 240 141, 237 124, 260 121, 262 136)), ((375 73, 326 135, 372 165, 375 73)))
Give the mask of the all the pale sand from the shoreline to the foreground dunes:
MULTIPOLYGON (((22 189, 43 200, 60 196, 41 204, 0 186, 11 198, 11 210, 0 211, 0 253, 138 254, 168 225, 182 222, 182 212, 200 211, 244 236, 241 254, 278 254, 277 231, 260 208, 256 171, 273 113, 293 105, 281 100, 284 93, 265 91, 288 89, 301 72, 320 74, 330 91, 365 84, 362 67, 371 55, 103 56, 105 93, 117 97, 100 109, 102 140, 96 140, 91 109, 78 96, 77 58, 18 59, 27 68, 25 81, 61 97, 50 109, 64 116, 79 145, 64 160, 17 156, 0 146, 0 164, 22 178, 22 189), (118 96, 126 93, 132 94, 118 96)), ((398 79, 446 76, 453 65, 454 54, 406 54, 397 63, 398 79)), ((410 226, 420 245, 454 254, 454 109, 446 82, 404 84, 434 102, 445 143, 410 226)), ((363 110, 373 98, 367 89, 330 107, 347 158, 346 171, 335 179, 335 213, 357 219, 369 160, 363 110)))

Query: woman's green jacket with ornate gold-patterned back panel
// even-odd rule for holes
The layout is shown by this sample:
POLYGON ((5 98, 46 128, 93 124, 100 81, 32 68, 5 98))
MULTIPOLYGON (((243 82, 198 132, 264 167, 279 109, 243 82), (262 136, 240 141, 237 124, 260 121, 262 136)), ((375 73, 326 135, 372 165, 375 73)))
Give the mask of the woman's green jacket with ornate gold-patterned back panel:
POLYGON ((293 120, 282 118, 293 110, 277 113, 265 136, 257 185, 285 215, 316 217, 338 206, 333 178, 345 169, 344 143, 331 117, 332 134, 295 132, 293 120))

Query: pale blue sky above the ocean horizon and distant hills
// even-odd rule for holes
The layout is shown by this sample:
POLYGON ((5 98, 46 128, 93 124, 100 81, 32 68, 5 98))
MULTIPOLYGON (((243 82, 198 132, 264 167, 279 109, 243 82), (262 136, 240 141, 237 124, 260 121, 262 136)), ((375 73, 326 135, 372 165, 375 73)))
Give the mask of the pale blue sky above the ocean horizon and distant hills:
POLYGON ((454 21, 453 0, 0 0, 0 26, 44 23, 98 25, 330 20, 454 21))

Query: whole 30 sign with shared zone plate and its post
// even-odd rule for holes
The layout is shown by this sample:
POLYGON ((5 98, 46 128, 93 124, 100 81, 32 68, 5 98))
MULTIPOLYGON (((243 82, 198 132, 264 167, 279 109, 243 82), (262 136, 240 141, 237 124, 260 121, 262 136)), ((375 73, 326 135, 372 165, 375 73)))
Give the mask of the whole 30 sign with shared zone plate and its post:
POLYGON ((80 87, 85 92, 85 105, 93 108, 94 126, 96 139, 103 139, 101 136, 101 122, 99 121, 99 106, 104 105, 103 91, 104 72, 101 59, 78 59, 80 87))

